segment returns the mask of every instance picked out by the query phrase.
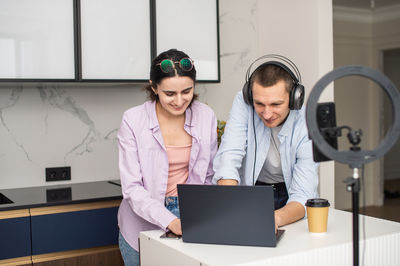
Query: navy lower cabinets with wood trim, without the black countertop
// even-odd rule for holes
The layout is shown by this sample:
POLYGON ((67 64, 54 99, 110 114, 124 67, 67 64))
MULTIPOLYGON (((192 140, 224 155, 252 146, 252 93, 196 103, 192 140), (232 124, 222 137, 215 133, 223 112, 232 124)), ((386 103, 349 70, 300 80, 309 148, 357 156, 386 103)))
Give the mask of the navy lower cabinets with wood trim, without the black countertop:
POLYGON ((0 212, 0 265, 123 265, 120 202, 0 212))

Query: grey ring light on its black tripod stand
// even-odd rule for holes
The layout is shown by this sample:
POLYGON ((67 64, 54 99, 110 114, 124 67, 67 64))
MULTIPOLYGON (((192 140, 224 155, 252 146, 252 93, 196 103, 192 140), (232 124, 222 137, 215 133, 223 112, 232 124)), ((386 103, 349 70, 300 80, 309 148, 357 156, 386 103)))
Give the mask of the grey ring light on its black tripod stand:
MULTIPOLYGON (((355 99, 356 100, 356 99, 355 99)), ((326 157, 335 161, 348 164, 353 169, 353 176, 346 180, 347 190, 352 192, 352 207, 353 207, 353 263, 359 265, 359 251, 358 251, 358 240, 359 240, 359 229, 358 229, 358 214, 359 214, 359 192, 360 192, 360 181, 358 175, 358 168, 361 168, 363 164, 372 162, 386 152, 396 144, 396 141, 400 135, 400 93, 396 86, 382 73, 364 66, 344 66, 337 68, 325 76, 323 76, 312 89, 306 107, 306 121, 309 136, 312 139, 314 145, 318 147, 322 154, 326 157), (392 104, 393 113, 393 124, 389 128, 385 138, 380 145, 374 150, 361 150, 357 146, 361 142, 361 130, 353 131, 350 127, 344 126, 340 128, 332 128, 331 131, 336 132, 336 136, 340 136, 340 130, 347 128, 349 130, 348 138, 353 145, 349 151, 338 151, 332 148, 328 142, 324 139, 320 132, 317 123, 317 104, 318 99, 325 89, 325 87, 332 81, 346 77, 346 76, 363 76, 375 81, 380 85, 388 95, 392 104)))

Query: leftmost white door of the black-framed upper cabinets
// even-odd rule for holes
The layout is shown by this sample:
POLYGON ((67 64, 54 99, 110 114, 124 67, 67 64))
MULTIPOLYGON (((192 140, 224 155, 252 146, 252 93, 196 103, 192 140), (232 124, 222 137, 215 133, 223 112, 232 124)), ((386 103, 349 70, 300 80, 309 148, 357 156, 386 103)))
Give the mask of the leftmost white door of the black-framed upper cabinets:
POLYGON ((71 0, 0 1, 0 79, 74 79, 71 0))

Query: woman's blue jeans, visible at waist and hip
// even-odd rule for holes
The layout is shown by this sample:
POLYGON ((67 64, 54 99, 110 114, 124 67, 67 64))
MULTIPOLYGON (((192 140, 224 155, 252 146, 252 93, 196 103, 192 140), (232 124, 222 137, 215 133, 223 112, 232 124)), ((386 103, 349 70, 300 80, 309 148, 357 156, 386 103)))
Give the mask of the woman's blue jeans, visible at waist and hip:
MULTIPOLYGON (((176 217, 180 217, 178 197, 166 197, 165 207, 176 217)), ((126 242, 121 232, 119 233, 118 242, 119 250, 121 251, 122 259, 124 260, 125 266, 139 266, 139 252, 137 252, 128 244, 128 242, 126 242)))

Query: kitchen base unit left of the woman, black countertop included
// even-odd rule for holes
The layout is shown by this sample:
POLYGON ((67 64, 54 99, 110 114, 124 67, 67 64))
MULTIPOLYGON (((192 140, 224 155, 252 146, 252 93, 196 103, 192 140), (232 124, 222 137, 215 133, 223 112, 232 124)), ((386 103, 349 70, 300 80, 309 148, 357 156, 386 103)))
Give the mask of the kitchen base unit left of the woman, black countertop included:
POLYGON ((0 264, 53 262, 93 249, 119 254, 121 199, 119 180, 0 190, 0 264))

